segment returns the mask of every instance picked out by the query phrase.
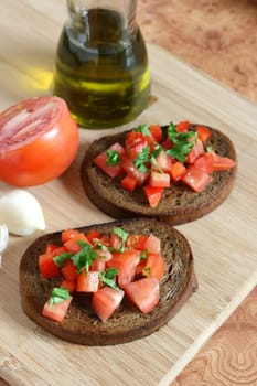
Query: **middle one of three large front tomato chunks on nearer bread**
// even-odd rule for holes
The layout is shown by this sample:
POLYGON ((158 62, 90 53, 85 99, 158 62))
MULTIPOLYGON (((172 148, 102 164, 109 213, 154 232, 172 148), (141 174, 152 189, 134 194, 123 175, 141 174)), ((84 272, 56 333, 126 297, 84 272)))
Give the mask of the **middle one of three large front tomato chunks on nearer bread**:
POLYGON ((110 287, 103 287, 93 293, 92 308, 98 318, 105 322, 109 319, 124 299, 122 290, 115 290, 110 287))

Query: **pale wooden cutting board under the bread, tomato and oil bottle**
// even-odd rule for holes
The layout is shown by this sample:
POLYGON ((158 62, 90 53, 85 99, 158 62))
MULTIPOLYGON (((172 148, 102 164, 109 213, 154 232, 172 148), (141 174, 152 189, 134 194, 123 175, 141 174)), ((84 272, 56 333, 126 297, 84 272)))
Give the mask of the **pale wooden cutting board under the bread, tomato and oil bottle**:
MULTIPOLYGON (((65 1, 9 0, 0 13, 0 109, 50 94, 52 65, 65 1)), ((222 129, 238 156, 235 187, 218 208, 178 228, 195 257, 199 291, 151 336, 110 347, 87 347, 45 333, 23 314, 18 269, 40 234, 11 237, 0 269, 0 376, 12 385, 169 385, 257 283, 257 107, 149 45, 157 101, 137 119, 168 124, 188 119, 222 129)), ((30 189, 42 204, 45 233, 110 219, 86 197, 79 165, 92 140, 116 130, 79 130, 75 162, 60 179, 30 189)), ((8 186, 0 185, 1 193, 8 186)), ((1 223, 1 218, 0 218, 1 223)))

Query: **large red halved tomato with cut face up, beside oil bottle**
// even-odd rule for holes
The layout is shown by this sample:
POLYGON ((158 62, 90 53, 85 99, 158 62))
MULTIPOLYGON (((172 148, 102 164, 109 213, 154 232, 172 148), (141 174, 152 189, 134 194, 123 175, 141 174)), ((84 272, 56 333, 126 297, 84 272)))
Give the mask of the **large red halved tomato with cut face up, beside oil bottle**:
POLYGON ((32 186, 60 176, 77 148, 77 124, 61 98, 31 98, 0 114, 0 180, 9 184, 32 186))

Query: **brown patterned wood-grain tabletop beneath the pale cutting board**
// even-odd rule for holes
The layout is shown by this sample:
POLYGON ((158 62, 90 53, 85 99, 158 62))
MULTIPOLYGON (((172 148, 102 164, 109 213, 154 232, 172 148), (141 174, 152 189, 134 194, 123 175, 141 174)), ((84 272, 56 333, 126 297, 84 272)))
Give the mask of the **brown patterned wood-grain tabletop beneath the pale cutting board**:
MULTIPOLYGON (((138 14, 148 41, 257 103, 257 1, 141 0, 138 14)), ((256 304, 257 288, 172 386, 257 385, 256 304)))

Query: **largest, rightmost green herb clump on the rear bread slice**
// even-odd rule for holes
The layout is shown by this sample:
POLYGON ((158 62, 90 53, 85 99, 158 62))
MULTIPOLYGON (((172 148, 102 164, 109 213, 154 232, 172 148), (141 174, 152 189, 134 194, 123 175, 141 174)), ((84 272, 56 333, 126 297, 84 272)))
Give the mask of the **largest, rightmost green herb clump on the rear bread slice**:
POLYGON ((176 131, 174 124, 170 124, 168 127, 168 137, 173 142, 173 148, 167 150, 167 153, 176 160, 184 162, 186 156, 193 149, 197 140, 197 133, 195 131, 176 131))

